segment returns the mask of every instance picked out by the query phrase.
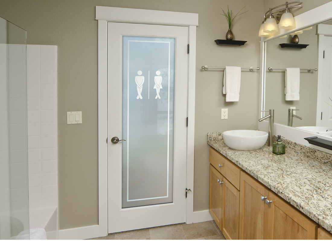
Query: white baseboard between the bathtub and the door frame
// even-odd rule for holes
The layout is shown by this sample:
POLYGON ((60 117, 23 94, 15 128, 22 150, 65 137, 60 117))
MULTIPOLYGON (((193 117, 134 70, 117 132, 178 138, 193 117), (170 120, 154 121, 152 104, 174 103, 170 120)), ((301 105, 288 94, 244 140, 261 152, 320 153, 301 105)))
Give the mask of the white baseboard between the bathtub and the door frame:
POLYGON ((99 225, 59 230, 59 239, 88 239, 99 237, 99 225))

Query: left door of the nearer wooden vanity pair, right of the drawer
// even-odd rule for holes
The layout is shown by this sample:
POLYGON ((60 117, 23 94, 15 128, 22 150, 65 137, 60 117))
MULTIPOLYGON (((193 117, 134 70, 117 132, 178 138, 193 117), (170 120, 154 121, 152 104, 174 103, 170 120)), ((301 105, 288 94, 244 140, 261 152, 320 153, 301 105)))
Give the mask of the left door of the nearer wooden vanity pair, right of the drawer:
POLYGON ((269 194, 262 184, 244 171, 240 174, 240 237, 239 239, 267 239, 268 206, 261 196, 269 194))

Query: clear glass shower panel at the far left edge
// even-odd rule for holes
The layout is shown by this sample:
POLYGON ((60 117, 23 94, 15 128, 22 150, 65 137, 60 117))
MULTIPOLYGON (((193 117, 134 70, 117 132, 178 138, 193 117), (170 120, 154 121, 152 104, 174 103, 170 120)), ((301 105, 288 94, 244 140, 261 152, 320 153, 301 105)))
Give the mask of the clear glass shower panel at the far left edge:
POLYGON ((0 18, 1 239, 29 239, 26 35, 0 18))

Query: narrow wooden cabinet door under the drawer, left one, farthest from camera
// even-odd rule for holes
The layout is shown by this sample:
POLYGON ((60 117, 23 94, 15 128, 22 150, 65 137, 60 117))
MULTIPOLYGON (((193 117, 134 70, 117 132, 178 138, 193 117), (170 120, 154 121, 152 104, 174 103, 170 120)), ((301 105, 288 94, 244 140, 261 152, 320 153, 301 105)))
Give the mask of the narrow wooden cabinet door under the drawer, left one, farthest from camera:
POLYGON ((219 229, 222 230, 223 225, 223 187, 221 174, 210 164, 209 174, 209 204, 208 210, 218 225, 219 229))

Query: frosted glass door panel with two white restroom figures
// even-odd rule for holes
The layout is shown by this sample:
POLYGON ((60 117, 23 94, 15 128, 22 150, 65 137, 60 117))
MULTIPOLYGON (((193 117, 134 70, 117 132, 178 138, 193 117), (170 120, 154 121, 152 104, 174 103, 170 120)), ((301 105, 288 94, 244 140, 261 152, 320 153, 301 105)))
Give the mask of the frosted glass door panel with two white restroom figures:
POLYGON ((175 38, 123 36, 122 208, 173 202, 175 38))

